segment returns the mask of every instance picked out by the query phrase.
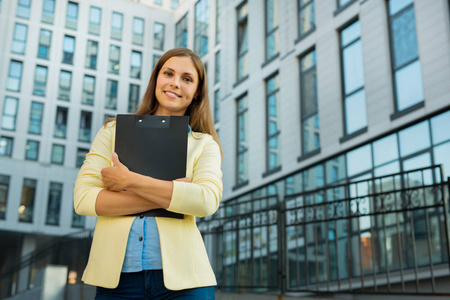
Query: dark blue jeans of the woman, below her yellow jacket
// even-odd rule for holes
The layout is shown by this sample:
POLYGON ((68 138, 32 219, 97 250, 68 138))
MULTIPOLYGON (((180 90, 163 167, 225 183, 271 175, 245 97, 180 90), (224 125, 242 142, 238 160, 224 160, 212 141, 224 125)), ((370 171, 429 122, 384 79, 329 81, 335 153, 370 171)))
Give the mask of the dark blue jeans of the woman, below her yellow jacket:
POLYGON ((164 286, 162 270, 121 273, 115 289, 97 287, 95 300, 113 299, 195 299, 214 300, 214 287, 171 291, 164 286))

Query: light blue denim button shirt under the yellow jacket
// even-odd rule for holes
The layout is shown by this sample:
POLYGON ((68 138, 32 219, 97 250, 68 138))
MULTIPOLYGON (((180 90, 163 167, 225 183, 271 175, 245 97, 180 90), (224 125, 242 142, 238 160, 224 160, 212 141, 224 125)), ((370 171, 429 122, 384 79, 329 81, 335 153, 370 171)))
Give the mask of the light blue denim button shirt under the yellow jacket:
POLYGON ((154 217, 136 217, 128 235, 122 272, 160 269, 162 269, 161 245, 156 220, 154 217))

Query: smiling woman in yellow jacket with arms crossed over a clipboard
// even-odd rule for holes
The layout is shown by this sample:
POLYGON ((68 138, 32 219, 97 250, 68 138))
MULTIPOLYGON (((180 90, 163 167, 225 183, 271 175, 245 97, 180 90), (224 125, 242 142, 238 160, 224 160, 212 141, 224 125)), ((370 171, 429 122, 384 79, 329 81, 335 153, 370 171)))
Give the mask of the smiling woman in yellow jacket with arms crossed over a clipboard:
POLYGON ((221 148, 200 58, 185 48, 166 52, 136 114, 189 116, 186 177, 164 181, 129 171, 114 153, 115 121, 107 120, 74 188, 75 211, 98 216, 82 280, 97 286, 96 299, 214 299, 195 217, 219 207, 221 148), (126 216, 155 208, 185 217, 126 216))

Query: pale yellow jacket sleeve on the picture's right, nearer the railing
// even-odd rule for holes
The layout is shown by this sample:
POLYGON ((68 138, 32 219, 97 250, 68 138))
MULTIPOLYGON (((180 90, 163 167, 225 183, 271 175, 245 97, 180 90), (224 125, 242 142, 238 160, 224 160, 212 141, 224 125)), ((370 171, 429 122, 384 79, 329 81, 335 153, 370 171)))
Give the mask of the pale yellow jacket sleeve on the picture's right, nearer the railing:
POLYGON ((219 208, 223 183, 219 145, 210 135, 193 166, 192 182, 173 181, 169 211, 205 217, 219 208))

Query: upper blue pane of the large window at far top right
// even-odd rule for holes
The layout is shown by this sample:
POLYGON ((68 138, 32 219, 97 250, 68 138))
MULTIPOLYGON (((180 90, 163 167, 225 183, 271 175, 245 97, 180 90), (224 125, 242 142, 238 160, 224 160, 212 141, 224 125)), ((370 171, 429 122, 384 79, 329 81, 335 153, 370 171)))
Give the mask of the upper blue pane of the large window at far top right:
POLYGON ((395 68, 419 56, 414 9, 408 9, 392 21, 392 39, 395 68))

